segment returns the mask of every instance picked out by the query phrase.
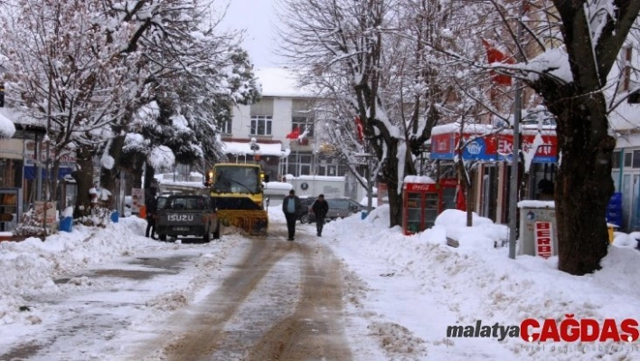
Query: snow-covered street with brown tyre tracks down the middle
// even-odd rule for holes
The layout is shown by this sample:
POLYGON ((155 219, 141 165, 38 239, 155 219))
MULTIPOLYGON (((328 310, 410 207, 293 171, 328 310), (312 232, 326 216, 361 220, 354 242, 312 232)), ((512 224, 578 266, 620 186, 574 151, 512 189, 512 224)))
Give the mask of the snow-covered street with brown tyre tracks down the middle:
POLYGON ((340 262, 301 227, 169 244, 63 277, 0 360, 349 360, 340 262), (55 312, 51 312, 55 310, 55 312))

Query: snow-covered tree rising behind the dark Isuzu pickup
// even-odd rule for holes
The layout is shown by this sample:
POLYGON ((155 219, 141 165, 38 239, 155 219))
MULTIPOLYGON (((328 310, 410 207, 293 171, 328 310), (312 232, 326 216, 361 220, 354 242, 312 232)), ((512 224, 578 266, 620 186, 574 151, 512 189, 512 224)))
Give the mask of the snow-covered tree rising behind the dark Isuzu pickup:
MULTIPOLYGON (((126 53, 142 52, 136 63, 141 69, 140 88, 121 121, 114 124, 118 136, 109 144, 109 154, 118 165, 123 159, 148 160, 159 146, 168 146, 176 161, 201 164, 203 159, 223 157, 221 145, 212 141, 219 124, 231 118, 231 108, 258 97, 249 56, 239 47, 241 33, 218 29, 223 11, 216 1, 171 0, 159 6, 145 1, 115 14, 136 27, 126 53), (149 19, 146 14, 154 14, 149 19), (144 16, 143 16, 144 14, 144 16), (154 103, 156 117, 136 117, 140 109, 154 103), (143 142, 131 141, 139 134, 143 142), (126 153, 122 153, 127 149, 126 153)), ((141 166, 134 161, 127 166, 141 166)), ((146 185, 154 169, 147 168, 146 185)), ((102 182, 110 185, 118 166, 103 169, 102 182)))

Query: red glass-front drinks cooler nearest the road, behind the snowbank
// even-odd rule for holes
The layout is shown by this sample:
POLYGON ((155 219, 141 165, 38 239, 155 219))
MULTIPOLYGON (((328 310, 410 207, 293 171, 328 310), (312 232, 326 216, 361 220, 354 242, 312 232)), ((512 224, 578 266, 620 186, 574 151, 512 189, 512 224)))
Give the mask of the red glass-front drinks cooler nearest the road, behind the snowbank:
POLYGON ((402 230, 406 235, 431 228, 442 212, 442 186, 437 183, 405 183, 402 230))

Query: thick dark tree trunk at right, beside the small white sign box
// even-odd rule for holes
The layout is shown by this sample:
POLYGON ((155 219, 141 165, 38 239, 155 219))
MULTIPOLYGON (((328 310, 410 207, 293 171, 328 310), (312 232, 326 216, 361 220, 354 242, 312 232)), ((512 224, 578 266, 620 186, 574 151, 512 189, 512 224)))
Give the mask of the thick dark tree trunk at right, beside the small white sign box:
POLYGON ((607 255, 616 140, 607 134, 605 101, 602 93, 590 93, 561 97, 549 107, 558 117, 561 159, 555 186, 559 269, 575 275, 597 271, 607 255))

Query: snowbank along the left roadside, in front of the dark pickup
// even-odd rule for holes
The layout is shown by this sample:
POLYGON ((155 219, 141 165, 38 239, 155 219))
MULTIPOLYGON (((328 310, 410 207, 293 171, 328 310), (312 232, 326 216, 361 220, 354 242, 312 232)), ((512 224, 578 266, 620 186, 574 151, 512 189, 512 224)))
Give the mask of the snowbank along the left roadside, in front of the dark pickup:
MULTIPOLYGON (((0 324, 20 318, 20 306, 40 292, 59 292, 54 282, 92 264, 108 261, 131 252, 166 247, 142 237, 146 222, 139 218, 121 218, 105 229, 74 226, 71 233, 49 236, 46 242, 28 238, 23 242, 0 242, 0 324), (136 237, 135 235, 139 235, 136 237), (132 242, 134 236, 135 242, 132 242)), ((85 285, 82 280, 71 284, 85 285)))

